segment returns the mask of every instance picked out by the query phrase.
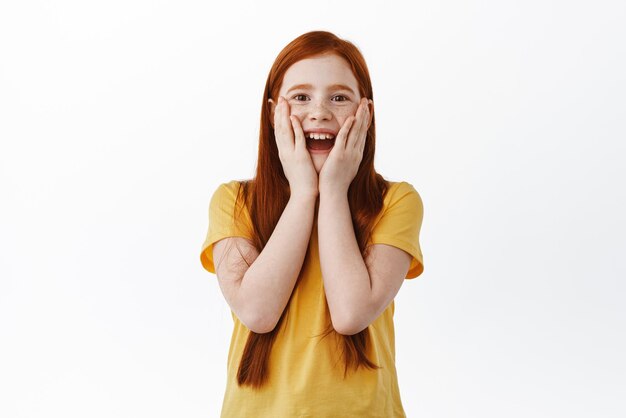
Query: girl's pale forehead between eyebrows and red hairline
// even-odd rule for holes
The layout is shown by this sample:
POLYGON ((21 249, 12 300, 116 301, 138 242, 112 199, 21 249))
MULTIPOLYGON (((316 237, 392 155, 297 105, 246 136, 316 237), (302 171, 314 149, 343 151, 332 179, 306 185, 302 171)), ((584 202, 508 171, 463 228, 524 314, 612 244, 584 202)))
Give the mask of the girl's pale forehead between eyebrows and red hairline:
POLYGON ((312 84, 315 88, 324 88, 333 84, 346 84, 356 92, 359 84, 345 58, 335 54, 319 55, 300 60, 285 72, 281 91, 286 91, 296 84, 312 84))

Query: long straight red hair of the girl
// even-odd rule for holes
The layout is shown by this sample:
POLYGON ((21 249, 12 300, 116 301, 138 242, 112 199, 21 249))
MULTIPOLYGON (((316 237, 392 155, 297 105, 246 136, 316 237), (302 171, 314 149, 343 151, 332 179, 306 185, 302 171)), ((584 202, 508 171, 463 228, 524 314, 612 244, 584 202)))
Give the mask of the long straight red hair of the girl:
MULTIPOLYGON (((241 187, 237 196, 238 203, 241 199, 250 212, 253 225, 253 242, 259 252, 262 251, 272 235, 287 206, 290 195, 289 182, 285 177, 278 156, 268 99, 272 98, 277 101, 285 72, 291 65, 302 59, 326 53, 334 53, 345 58, 358 82, 361 97, 374 99, 372 83, 363 55, 355 45, 330 32, 305 33, 291 41, 278 54, 267 77, 263 94, 256 175, 252 180, 240 182, 241 187)), ((348 189, 352 224, 363 257, 367 256, 366 244, 371 235, 374 219, 382 209, 383 198, 388 189, 388 183, 374 170, 375 126, 375 119, 372 114, 363 158, 348 189)), ((235 207, 238 206, 235 205, 235 207)), ((295 286, 298 286, 299 281, 298 278, 295 286)), ((287 307, 289 303, 291 303, 291 297, 287 302, 287 307)), ((267 381, 270 350, 286 317, 287 307, 285 307, 272 331, 264 334, 250 331, 237 371, 237 382, 240 386, 248 385, 260 388, 267 381)), ((332 332, 336 331, 330 323, 323 335, 327 336, 332 332)), ((380 368, 372 363, 366 355, 369 328, 365 328, 355 335, 343 335, 342 337, 344 377, 351 367, 354 369, 359 366, 368 369, 380 368)))

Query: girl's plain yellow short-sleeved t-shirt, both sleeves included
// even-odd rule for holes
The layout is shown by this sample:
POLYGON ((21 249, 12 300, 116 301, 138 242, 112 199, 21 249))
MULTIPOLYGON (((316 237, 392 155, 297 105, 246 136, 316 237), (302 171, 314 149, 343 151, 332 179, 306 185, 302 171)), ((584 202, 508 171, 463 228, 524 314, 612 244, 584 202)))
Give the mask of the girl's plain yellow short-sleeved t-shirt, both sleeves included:
MULTIPOLYGON (((233 205, 239 183, 221 184, 211 198, 209 228, 202 245, 203 267, 215 273, 213 244, 222 238, 250 238, 249 213, 233 219, 233 205)), ((317 215, 316 215, 317 216, 317 215)), ((422 199, 407 182, 390 182, 384 207, 372 230, 370 242, 393 245, 413 259, 407 279, 424 270, 419 233, 422 224, 422 199)), ((339 337, 321 334, 330 323, 319 263, 317 222, 299 284, 288 305, 287 318, 272 346, 269 377, 265 386, 252 389, 237 385, 237 369, 246 343, 248 328, 231 311, 234 328, 228 353, 226 393, 222 418, 400 418, 406 417, 395 368, 394 301, 369 326, 367 356, 381 369, 349 369, 344 380, 339 337)))

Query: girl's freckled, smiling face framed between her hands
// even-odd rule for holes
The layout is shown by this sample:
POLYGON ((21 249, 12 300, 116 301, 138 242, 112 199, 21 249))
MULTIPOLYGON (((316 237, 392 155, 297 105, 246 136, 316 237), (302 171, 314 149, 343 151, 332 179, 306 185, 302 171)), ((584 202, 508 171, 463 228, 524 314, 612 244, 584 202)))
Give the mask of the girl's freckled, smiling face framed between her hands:
MULTIPOLYGON (((336 136, 346 119, 356 114, 361 95, 350 65, 335 54, 300 60, 287 69, 278 95, 287 100, 290 113, 300 121, 307 137, 307 149, 319 173, 330 150, 311 149, 314 140, 308 134, 326 130, 336 136)), ((274 120, 275 102, 271 103, 274 120)))

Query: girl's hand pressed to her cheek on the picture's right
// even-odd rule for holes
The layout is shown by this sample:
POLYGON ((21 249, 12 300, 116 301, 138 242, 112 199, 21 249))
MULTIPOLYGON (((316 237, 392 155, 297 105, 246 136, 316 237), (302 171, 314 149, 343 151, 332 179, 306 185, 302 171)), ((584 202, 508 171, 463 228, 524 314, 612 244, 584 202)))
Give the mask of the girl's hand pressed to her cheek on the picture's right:
POLYGON ((335 145, 330 150, 319 173, 319 193, 348 193, 350 183, 359 171, 363 159, 363 149, 369 128, 370 111, 366 97, 363 97, 356 115, 346 119, 337 133, 335 145))

